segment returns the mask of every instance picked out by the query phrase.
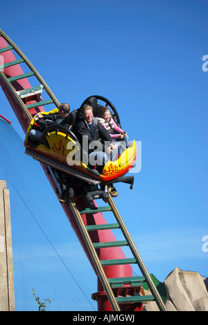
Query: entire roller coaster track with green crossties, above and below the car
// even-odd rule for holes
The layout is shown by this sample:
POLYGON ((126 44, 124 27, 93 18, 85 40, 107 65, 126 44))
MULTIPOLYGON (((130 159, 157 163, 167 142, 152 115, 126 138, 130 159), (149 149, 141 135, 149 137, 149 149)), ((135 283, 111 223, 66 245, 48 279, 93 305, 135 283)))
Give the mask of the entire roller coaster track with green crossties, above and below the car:
MULTIPOLYGON (((8 38, 8 36, 1 30, 0 56, 3 58, 3 63, 1 62, 0 65, 1 87, 6 93, 6 96, 10 101, 10 104, 15 111, 22 128, 24 131, 26 131, 32 117, 38 111, 44 110, 42 106, 53 104, 56 108, 58 108, 60 103, 26 56, 24 56, 24 54, 18 49, 12 40, 10 40, 10 38, 8 38), (20 67, 21 64, 26 64, 29 71, 24 73, 20 67), (34 76, 40 85, 35 85, 35 87, 32 87, 30 83, 28 83, 28 78, 31 76, 34 76), (46 92, 49 99, 42 100, 40 94, 42 94, 43 90, 46 92)), ((60 190, 58 189, 58 182, 55 179, 53 170, 49 165, 49 162, 42 158, 42 167, 44 168, 46 176, 49 178, 53 189, 55 191, 60 190)), ((52 167, 55 168, 55 166, 52 167)), ((73 174, 73 170, 71 173, 73 174)), ((75 177, 78 176, 75 175, 75 177)), ((144 262, 141 259, 141 256, 139 255, 130 234, 128 233, 128 230, 115 206, 114 201, 112 200, 112 197, 109 196, 107 206, 100 208, 97 206, 95 201, 94 206, 88 208, 84 202, 84 198, 69 199, 67 204, 63 204, 62 206, 69 221, 71 222, 71 226, 73 226, 73 229, 78 235, 78 239, 85 249, 87 257, 92 263, 92 267, 94 267, 94 271, 100 280, 101 286, 103 286, 105 296, 107 296, 112 310, 128 310, 128 307, 132 305, 134 305, 135 308, 139 306, 139 310, 141 310, 143 303, 155 301, 159 310, 166 311, 164 302, 162 301, 162 298, 160 297, 152 278, 148 274, 144 262), (107 224, 102 215, 102 213, 105 212, 112 212, 116 219, 116 223, 107 224), (93 224, 87 223, 88 215, 93 217, 93 224), (124 236, 124 240, 115 240, 114 235, 112 235, 112 229, 120 229, 124 236), (100 234, 103 233, 103 231, 110 231, 110 233, 107 232, 106 237, 104 236, 104 241, 102 240, 96 242, 96 238, 100 239, 100 234), (123 246, 128 246, 130 248, 133 256, 132 258, 123 257, 124 254, 123 252, 121 253, 121 247, 123 246), (101 258, 101 251, 105 251, 105 249, 114 250, 114 253, 118 253, 119 258, 105 258, 105 260, 103 260, 101 258), (137 264, 142 276, 121 276, 122 269, 119 272, 119 276, 110 276, 112 274, 110 267, 119 267, 119 265, 128 265, 129 267, 130 264, 137 264), (150 289, 151 294, 148 296, 142 295, 141 289, 144 282, 147 283, 148 288, 150 289)), ((123 274, 127 273, 132 274, 132 271, 125 271, 123 274)), ((97 296, 98 295, 99 292, 97 296)), ((98 297, 96 297, 96 299, 98 299, 98 297)))

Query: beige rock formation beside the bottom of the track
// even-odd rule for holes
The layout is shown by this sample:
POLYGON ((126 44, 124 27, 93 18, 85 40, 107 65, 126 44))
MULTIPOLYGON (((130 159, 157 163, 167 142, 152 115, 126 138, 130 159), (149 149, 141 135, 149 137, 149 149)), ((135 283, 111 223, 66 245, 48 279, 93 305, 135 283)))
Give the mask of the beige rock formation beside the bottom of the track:
MULTIPOLYGON (((208 311, 207 278, 197 272, 181 271, 178 267, 164 281, 168 311, 208 311)), ((150 292, 146 292, 150 294, 150 292)), ((144 306, 147 311, 158 310, 155 302, 144 306)))

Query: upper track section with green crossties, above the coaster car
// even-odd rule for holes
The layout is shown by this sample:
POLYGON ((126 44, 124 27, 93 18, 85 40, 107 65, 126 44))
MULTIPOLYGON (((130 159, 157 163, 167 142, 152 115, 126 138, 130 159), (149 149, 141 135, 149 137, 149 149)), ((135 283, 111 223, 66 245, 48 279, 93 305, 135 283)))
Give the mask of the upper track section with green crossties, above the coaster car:
POLYGON ((8 43, 8 47, 4 47, 3 49, 0 49, 0 55, 2 53, 6 52, 6 51, 12 50, 12 51, 14 51, 14 55, 16 54, 15 57, 19 56, 19 58, 17 60, 15 60, 15 61, 0 65, 0 77, 3 80, 3 82, 6 84, 6 86, 10 90, 10 92, 12 93, 12 95, 15 98, 15 100, 17 101, 17 103, 19 103, 19 106, 20 106, 21 110, 24 112, 24 114, 26 115, 26 117, 28 118, 28 121, 31 122, 31 119, 32 119, 32 116, 31 116, 31 113, 30 113, 30 110, 32 108, 37 108, 37 107, 40 107, 40 106, 49 105, 51 103, 53 103, 55 105, 55 107, 58 108, 60 106, 60 103, 58 102, 58 99, 55 98, 53 92, 51 92, 48 85, 46 85, 43 78, 37 72, 35 67, 33 67, 31 62, 26 58, 26 56, 24 56, 24 53, 22 53, 20 51, 20 49, 15 45, 15 43, 12 42, 12 40, 10 40, 10 38, 8 38, 8 36, 5 33, 3 33, 3 31, 1 31, 1 29, 0 29, 0 36, 2 38, 4 38, 4 40, 6 40, 6 42, 8 43), (7 67, 12 67, 14 65, 20 65, 21 63, 25 63, 28 66, 30 71, 25 73, 25 74, 20 74, 18 76, 13 76, 11 78, 7 78, 7 76, 3 73, 3 69, 6 69, 7 67), (17 92, 15 90, 15 88, 13 87, 12 83, 15 82, 15 81, 19 81, 21 79, 24 79, 24 78, 31 77, 31 76, 35 76, 35 78, 37 78, 37 81, 40 83, 40 86, 35 86, 33 88, 29 88, 27 90, 17 92), (24 103, 24 101, 21 99, 21 97, 23 95, 26 96, 27 94, 33 94, 33 92, 35 92, 37 90, 40 90, 41 88, 42 88, 42 90, 46 91, 46 93, 49 96, 49 99, 46 99, 46 100, 43 100, 43 101, 38 101, 37 103, 33 103, 33 104, 30 104, 30 105, 26 105, 24 103))

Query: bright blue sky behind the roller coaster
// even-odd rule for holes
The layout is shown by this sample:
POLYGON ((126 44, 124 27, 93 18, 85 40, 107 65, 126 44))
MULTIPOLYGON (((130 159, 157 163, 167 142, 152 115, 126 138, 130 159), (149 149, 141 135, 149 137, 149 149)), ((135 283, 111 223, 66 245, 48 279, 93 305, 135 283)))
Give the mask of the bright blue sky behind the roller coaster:
MULTIPOLYGON (((141 141, 142 167, 135 174, 134 190, 117 185, 115 201, 149 272, 160 281, 175 267, 207 276, 208 253, 202 251, 202 238, 208 235, 208 72, 202 71, 202 57, 208 55, 207 14, 208 3, 202 0, 60 0, 42 1, 41 6, 20 0, 1 4, 0 28, 31 60, 60 102, 67 101, 75 109, 92 94, 107 97, 119 111, 130 139, 141 141)), ((1 90, 0 103, 0 114, 24 138, 1 90)), ((19 181, 13 165, 5 162, 5 150, 0 163, 7 167, 8 177, 18 184, 42 227, 40 230, 32 215, 28 217, 8 181, 14 195, 18 308, 24 308, 22 290, 30 308, 35 308, 29 297, 30 286, 36 286, 37 294, 51 299, 51 308, 59 309, 62 299, 62 306, 69 310, 69 297, 64 299, 69 294, 66 283, 74 287, 73 302, 79 308, 80 301, 87 299, 71 278, 76 274, 92 303, 87 301, 80 308, 93 310, 96 304, 90 294, 96 292, 96 277, 39 163, 25 157, 22 149, 19 159, 28 167, 27 172, 24 169, 28 176, 21 170, 19 181), (38 174, 41 187, 31 185, 33 173, 38 174), (43 262, 37 267, 33 259, 28 263, 28 256, 43 262), (53 284, 46 281, 50 263, 53 284)), ((2 169, 0 176, 6 178, 2 169)))

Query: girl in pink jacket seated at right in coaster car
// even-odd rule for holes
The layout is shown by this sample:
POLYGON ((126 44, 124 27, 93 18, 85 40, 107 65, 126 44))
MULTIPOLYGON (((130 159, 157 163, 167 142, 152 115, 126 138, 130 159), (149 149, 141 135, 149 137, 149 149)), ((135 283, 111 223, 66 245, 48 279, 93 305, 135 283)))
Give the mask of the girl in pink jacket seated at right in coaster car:
POLYGON ((98 121, 110 133, 112 139, 116 141, 125 141, 125 146, 128 148, 128 135, 114 122, 110 109, 108 107, 101 108, 100 116, 96 117, 98 121))

